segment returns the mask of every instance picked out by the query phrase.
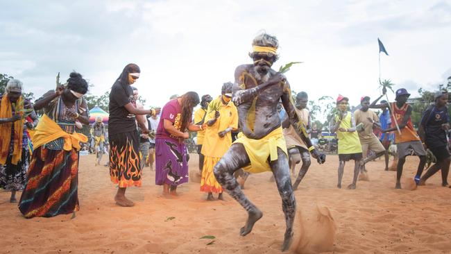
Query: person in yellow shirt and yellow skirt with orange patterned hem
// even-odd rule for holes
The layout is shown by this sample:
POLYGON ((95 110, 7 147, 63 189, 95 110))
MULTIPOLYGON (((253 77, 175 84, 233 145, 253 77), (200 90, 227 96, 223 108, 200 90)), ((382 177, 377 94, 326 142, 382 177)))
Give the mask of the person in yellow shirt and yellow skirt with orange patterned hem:
POLYGON ((223 189, 214 177, 213 168, 232 145, 230 132, 238 128, 237 107, 231 101, 232 86, 230 82, 223 85, 221 96, 208 105, 205 119, 207 128, 201 151, 205 155, 201 192, 208 192, 208 201, 214 200, 213 192, 219 193, 218 199, 223 200, 223 189))

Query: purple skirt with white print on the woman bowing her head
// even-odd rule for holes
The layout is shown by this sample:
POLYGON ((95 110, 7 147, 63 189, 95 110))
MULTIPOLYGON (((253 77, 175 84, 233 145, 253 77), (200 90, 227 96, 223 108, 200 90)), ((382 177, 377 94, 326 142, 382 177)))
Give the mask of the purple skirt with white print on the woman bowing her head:
POLYGON ((175 139, 155 139, 155 184, 188 182, 187 147, 175 139))

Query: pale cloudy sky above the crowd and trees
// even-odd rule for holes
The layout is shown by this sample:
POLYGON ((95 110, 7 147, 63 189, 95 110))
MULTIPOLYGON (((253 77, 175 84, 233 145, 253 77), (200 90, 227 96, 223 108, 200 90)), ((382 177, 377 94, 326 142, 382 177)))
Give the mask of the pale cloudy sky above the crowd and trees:
MULTIPOLYGON (((417 94, 451 76, 451 1, 3 1, 0 73, 40 96, 58 71, 76 70, 103 94, 129 62, 148 105, 172 94, 221 92, 235 67, 250 63, 262 30, 280 42, 278 69, 309 99, 343 94, 350 103, 380 94, 382 79, 417 94)), ((391 94, 393 98, 393 94, 391 94)))

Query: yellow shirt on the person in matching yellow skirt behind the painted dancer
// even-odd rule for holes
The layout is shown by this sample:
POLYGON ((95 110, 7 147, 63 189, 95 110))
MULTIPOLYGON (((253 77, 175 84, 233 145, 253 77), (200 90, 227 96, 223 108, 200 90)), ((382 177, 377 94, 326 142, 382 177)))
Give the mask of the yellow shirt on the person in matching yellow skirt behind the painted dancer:
POLYGON ((205 123, 214 119, 215 111, 212 105, 220 105, 218 110, 220 116, 212 126, 207 126, 201 153, 205 156, 221 158, 232 145, 232 134, 228 132, 224 137, 219 137, 218 133, 229 127, 238 128, 238 111, 232 101, 223 105, 219 96, 208 105, 205 123))

